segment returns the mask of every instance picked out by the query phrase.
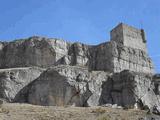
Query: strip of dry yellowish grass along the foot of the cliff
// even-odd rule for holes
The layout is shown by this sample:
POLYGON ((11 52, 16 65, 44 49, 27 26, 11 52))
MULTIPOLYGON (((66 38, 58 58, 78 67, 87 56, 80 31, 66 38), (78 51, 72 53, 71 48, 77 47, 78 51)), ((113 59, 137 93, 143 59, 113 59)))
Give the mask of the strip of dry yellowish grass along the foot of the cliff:
MULTIPOLYGON (((54 107, 29 104, 4 104, 0 120, 140 120, 155 117, 146 111, 122 110, 107 107, 54 107)), ((156 116, 157 117, 157 116, 156 116)), ((155 120, 160 120, 160 117, 155 120)))

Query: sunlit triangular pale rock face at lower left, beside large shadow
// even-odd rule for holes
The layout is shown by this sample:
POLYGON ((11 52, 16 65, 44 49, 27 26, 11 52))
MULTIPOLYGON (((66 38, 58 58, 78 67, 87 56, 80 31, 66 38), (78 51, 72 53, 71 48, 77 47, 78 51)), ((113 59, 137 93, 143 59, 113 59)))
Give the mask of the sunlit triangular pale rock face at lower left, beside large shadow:
POLYGON ((0 98, 12 102, 23 87, 39 77, 40 68, 12 68, 0 70, 0 98))

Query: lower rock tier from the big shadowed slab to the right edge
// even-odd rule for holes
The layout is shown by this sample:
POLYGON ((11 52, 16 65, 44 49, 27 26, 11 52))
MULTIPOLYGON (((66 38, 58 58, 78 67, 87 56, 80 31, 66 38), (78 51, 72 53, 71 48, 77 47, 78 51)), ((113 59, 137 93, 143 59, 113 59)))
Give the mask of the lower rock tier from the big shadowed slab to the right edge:
POLYGON ((61 65, 44 71, 14 101, 56 106, 137 105, 141 109, 146 105, 153 109, 159 106, 159 95, 154 90, 151 74, 128 70, 113 74, 89 72, 83 67, 61 65))

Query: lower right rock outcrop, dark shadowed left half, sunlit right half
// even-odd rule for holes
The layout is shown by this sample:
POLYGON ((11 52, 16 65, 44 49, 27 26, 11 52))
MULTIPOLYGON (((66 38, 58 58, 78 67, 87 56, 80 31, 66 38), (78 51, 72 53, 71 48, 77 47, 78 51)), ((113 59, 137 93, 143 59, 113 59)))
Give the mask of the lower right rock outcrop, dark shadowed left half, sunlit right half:
POLYGON ((101 103, 118 104, 134 108, 141 101, 149 108, 159 106, 154 92, 152 76, 145 73, 122 71, 113 74, 102 86, 101 103))

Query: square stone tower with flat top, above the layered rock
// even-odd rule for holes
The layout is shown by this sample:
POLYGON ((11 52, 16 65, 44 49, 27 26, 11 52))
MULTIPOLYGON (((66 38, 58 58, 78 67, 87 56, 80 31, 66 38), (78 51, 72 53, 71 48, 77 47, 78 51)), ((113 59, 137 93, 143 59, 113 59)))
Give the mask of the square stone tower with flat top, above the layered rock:
POLYGON ((111 40, 120 45, 143 50, 147 52, 146 37, 143 29, 137 29, 120 23, 110 32, 111 40))

